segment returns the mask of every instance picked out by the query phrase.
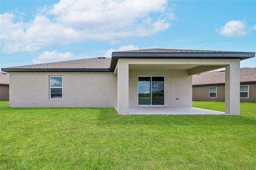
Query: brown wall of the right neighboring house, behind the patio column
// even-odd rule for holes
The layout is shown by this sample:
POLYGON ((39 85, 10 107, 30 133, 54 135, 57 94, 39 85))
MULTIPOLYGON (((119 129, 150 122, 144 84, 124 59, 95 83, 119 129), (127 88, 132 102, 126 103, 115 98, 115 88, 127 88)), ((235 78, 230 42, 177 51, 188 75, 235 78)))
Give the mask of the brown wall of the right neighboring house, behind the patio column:
MULTIPOLYGON (((256 101, 256 83, 241 83, 241 85, 249 85, 249 98, 240 98, 240 101, 256 101)), ((193 100, 216 100, 225 101, 225 85, 212 86, 193 86, 193 100), (217 98, 208 97, 208 88, 217 87, 217 98)))

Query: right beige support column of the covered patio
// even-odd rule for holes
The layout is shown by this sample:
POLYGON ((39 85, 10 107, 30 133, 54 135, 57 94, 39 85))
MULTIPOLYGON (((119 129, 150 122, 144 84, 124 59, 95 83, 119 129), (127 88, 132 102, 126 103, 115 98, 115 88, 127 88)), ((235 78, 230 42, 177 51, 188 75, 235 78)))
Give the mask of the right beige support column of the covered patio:
POLYGON ((240 61, 226 66, 225 113, 240 114, 240 61))

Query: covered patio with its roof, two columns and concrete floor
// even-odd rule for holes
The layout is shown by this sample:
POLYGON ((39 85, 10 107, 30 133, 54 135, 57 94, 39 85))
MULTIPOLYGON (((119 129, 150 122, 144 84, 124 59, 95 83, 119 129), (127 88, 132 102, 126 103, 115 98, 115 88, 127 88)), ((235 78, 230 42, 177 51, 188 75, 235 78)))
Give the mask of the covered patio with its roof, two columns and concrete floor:
POLYGON ((203 50, 113 52, 121 115, 239 115, 240 60, 251 53, 203 50), (225 68, 225 113, 192 107, 192 75, 225 68))

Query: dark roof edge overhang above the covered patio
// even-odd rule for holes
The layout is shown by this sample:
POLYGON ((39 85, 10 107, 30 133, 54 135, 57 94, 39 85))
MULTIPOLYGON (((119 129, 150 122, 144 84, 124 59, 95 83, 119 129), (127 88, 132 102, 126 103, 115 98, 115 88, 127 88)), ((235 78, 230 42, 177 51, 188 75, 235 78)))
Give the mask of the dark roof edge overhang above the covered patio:
POLYGON ((226 58, 226 59, 240 59, 245 60, 247 58, 252 58, 255 56, 255 53, 129 53, 129 52, 112 52, 110 71, 114 71, 117 61, 119 58, 206 58, 206 59, 217 59, 217 58, 226 58))

